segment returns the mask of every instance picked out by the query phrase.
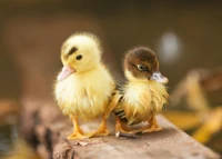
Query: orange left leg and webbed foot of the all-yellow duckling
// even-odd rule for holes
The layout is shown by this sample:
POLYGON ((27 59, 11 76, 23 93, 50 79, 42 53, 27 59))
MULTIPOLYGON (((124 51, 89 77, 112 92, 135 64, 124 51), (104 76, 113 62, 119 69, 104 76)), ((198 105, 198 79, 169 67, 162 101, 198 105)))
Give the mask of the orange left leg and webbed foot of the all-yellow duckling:
POLYGON ((73 133, 68 136, 68 139, 85 139, 89 138, 90 136, 84 135, 82 129, 79 127, 78 123, 78 118, 71 117, 72 122, 73 122, 73 133))

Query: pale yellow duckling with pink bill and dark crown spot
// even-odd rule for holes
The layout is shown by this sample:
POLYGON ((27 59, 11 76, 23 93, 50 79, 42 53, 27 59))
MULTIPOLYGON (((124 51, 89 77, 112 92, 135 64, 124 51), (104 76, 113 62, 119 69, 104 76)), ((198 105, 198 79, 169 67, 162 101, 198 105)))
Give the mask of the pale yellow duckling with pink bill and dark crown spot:
POLYGON ((99 39, 87 32, 75 33, 61 47, 63 68, 57 78, 54 97, 63 115, 73 122, 73 133, 68 139, 83 139, 92 136, 107 136, 105 113, 114 81, 101 62, 99 39), (95 132, 85 133, 79 119, 90 121, 102 116, 95 132))

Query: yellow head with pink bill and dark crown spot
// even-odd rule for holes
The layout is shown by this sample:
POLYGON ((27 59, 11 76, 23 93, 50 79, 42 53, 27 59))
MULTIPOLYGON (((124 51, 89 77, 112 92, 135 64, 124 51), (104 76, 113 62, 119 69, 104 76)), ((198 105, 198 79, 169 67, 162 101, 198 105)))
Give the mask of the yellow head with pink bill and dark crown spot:
POLYGON ((63 69, 58 77, 61 81, 70 74, 89 71, 101 60, 101 48, 98 38, 91 33, 75 33, 68 38, 61 47, 63 69))

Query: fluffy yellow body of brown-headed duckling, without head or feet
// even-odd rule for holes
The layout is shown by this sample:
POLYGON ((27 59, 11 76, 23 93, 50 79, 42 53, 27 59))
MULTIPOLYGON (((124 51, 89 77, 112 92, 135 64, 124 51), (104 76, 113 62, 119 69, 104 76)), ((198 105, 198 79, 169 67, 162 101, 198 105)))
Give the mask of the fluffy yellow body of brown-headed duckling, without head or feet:
POLYGON ((168 103, 165 87, 157 81, 130 82, 123 99, 123 108, 128 123, 147 121, 152 115, 160 112, 168 103))

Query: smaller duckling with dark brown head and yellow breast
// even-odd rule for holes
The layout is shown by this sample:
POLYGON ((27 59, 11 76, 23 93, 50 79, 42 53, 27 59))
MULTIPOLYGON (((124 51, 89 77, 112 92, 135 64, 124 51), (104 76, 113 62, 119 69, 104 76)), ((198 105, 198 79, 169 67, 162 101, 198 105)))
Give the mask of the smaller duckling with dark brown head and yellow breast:
POLYGON ((159 62, 152 50, 138 47, 130 50, 124 58, 125 85, 117 87, 109 111, 115 115, 115 131, 137 133, 159 131, 155 115, 168 103, 165 89, 168 78, 159 71, 159 62), (138 130, 130 126, 148 122, 138 130))

